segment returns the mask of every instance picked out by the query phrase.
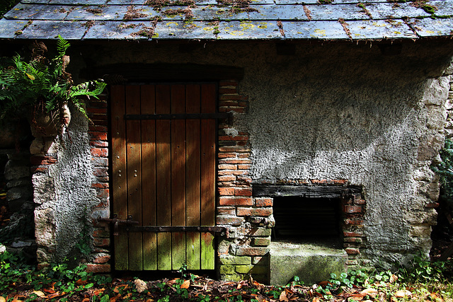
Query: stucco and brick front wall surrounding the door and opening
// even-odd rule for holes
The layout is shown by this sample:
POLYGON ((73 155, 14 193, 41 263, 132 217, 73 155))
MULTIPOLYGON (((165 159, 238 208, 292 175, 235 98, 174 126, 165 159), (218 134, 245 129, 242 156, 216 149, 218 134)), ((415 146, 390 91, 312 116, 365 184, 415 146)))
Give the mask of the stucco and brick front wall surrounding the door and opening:
MULTIPOLYGON (((254 197, 253 186, 268 183, 360 187, 360 197, 343 199, 350 265, 404 263, 430 250, 438 183, 429 166, 444 141, 451 76, 442 72, 452 42, 406 42, 395 56, 347 43, 298 43, 294 56, 259 42, 184 51, 160 42, 111 46, 79 45, 71 59, 94 69, 125 62, 243 68, 240 81, 219 81, 219 111, 234 115, 219 123, 218 136, 217 224, 229 227, 217 242, 222 279, 267 279, 273 199, 254 197)), ((109 226, 96 221, 110 216, 107 104, 91 102, 94 124, 76 115, 65 147, 54 141, 55 151, 40 155, 33 175, 40 262, 70 255, 88 221, 89 269, 111 269, 109 226)))

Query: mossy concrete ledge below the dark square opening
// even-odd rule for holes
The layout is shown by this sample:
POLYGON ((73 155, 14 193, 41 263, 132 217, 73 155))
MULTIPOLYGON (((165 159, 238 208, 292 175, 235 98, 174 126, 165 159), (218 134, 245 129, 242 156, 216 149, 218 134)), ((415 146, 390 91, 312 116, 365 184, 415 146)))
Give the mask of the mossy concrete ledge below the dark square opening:
POLYGON ((270 244, 270 285, 285 285, 298 276, 306 285, 346 272, 345 250, 306 243, 270 244))

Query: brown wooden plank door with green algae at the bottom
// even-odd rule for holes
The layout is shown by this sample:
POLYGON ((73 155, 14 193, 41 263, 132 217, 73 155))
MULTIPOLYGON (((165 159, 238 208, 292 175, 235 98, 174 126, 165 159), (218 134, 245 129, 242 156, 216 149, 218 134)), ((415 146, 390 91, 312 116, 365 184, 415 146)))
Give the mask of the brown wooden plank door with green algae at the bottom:
MULTIPOLYGON (((111 87, 113 214, 138 226, 214 226, 214 119, 128 119, 125 115, 215 113, 216 85, 111 87)), ((214 236, 194 231, 114 236, 115 269, 214 269, 214 236)))

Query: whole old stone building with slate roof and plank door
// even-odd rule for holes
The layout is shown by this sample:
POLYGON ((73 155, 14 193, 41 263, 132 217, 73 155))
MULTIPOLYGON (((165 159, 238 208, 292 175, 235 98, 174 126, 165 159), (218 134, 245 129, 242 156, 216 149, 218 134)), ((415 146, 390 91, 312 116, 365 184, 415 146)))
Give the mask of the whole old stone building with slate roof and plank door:
POLYGON ((186 263, 278 284, 324 278, 314 263, 428 254, 453 1, 321 2, 23 0, 6 13, 4 52, 62 35, 73 78, 109 84, 91 122, 71 110, 65 134, 30 149, 40 265, 88 242, 92 272, 186 263))

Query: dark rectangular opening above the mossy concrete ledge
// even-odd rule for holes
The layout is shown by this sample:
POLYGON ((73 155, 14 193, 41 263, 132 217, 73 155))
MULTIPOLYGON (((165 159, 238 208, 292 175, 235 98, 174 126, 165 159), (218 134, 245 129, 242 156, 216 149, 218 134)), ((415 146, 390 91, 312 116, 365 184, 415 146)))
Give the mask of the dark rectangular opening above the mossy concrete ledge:
POLYGON ((341 246, 340 199, 274 197, 273 240, 341 246))

